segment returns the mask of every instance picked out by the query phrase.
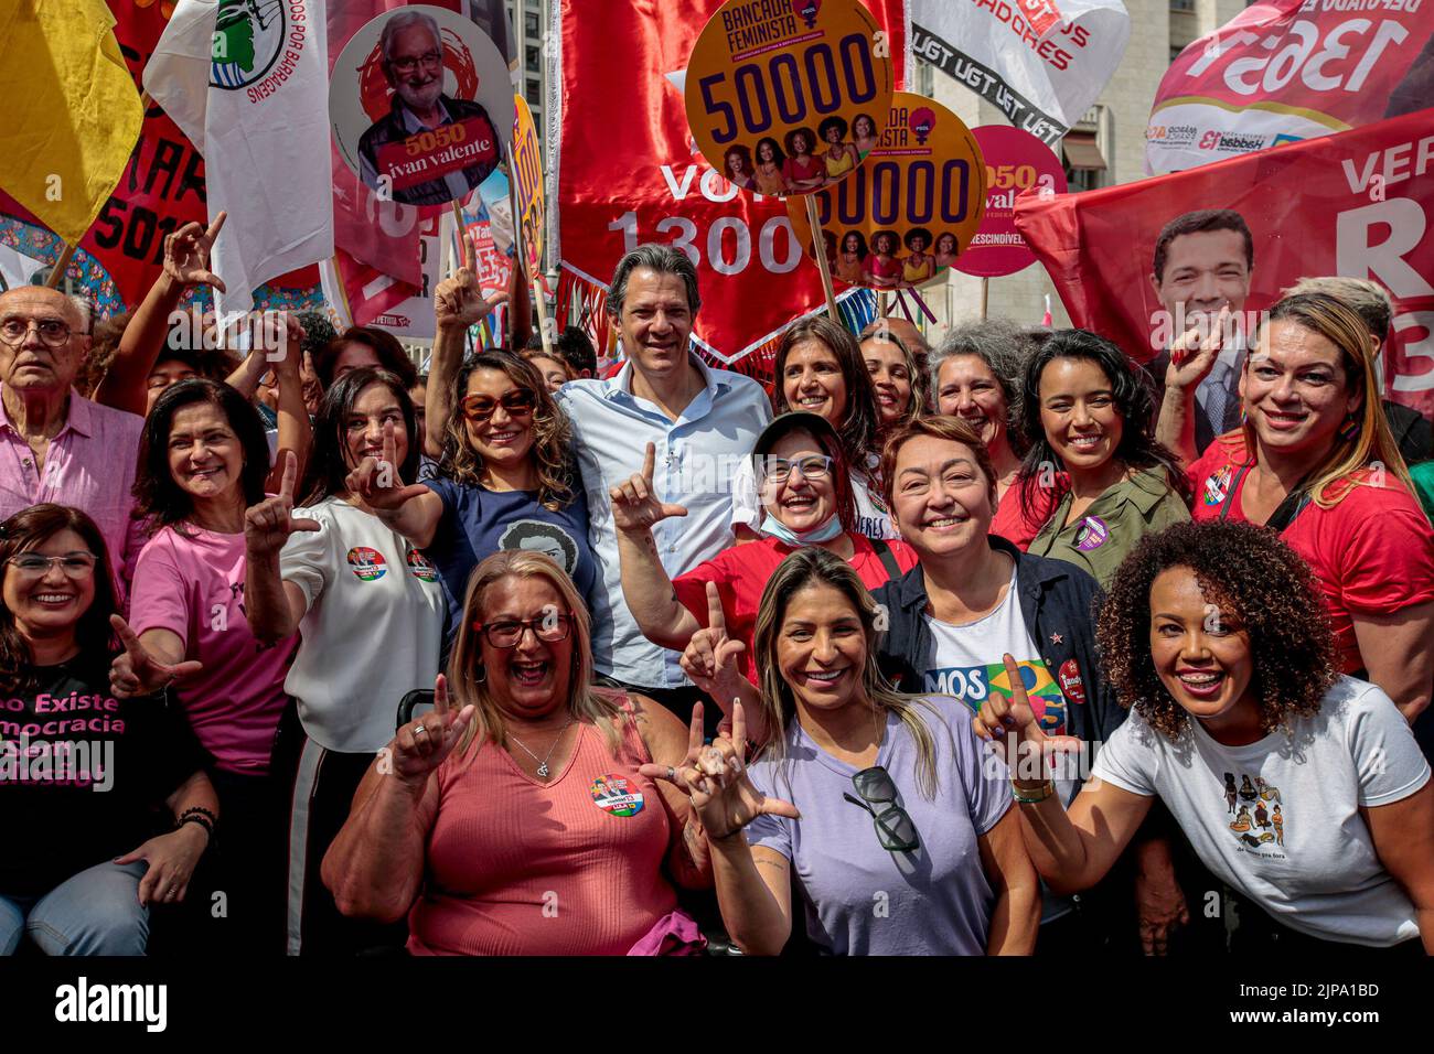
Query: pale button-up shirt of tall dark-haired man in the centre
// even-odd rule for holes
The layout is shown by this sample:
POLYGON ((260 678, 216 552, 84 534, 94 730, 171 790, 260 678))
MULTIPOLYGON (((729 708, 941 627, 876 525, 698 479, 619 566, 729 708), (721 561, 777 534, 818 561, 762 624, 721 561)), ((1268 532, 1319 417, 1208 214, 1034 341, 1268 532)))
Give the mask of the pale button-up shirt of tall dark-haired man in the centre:
POLYGON ((658 499, 687 508, 685 516, 652 528, 663 566, 677 578, 736 541, 731 480, 771 420, 767 393, 757 381, 708 369, 697 356, 691 361, 707 386, 675 422, 632 394, 631 361, 611 380, 568 381, 556 396, 572 422, 588 493, 588 535, 602 575, 592 609, 594 661, 599 673, 650 688, 675 688, 687 678, 677 664, 680 654, 648 641, 628 611, 608 492, 642 472, 647 445, 652 443, 658 499))

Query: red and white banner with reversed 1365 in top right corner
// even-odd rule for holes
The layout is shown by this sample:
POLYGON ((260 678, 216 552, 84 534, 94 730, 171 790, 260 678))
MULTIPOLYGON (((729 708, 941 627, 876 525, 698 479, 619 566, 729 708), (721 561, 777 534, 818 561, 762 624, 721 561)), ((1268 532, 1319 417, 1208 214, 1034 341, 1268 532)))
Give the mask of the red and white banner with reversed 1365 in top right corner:
POLYGON ((1170 63, 1146 129, 1146 169, 1180 172, 1431 102, 1427 3, 1256 3, 1170 63))

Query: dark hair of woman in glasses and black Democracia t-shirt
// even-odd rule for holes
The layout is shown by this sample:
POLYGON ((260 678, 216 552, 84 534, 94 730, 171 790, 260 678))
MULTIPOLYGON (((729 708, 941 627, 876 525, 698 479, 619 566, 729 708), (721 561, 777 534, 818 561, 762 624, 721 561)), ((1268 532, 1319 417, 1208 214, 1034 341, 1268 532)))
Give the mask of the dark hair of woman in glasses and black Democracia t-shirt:
MULTIPOLYGON (((119 609, 105 535, 95 521, 67 505, 32 505, 0 523, 0 575, 11 574, 11 556, 29 552, 62 531, 73 531, 95 554, 95 599, 75 624, 75 642, 86 657, 109 657, 113 632, 109 617, 119 609)), ((3 579, 0 579, 3 581, 3 579)), ((29 683, 30 645, 14 624, 14 612, 0 605, 0 691, 10 694, 29 683)))

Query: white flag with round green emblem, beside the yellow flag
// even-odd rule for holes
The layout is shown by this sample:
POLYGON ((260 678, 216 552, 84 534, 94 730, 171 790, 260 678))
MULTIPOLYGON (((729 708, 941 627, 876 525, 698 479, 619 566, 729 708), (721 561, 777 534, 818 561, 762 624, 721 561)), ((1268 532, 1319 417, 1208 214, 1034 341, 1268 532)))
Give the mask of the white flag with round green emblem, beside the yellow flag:
POLYGON ((221 313, 334 254, 324 3, 179 0, 145 66, 145 90, 204 155, 209 218, 229 214, 221 313))

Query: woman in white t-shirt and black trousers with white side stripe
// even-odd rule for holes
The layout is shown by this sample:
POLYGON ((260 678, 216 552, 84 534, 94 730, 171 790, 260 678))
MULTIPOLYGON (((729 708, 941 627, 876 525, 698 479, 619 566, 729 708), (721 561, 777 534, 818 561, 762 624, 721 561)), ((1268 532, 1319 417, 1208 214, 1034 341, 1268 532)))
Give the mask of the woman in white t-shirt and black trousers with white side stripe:
MULTIPOLYGON (((245 597, 254 635, 301 634, 285 688, 278 759, 294 777, 288 833, 288 952, 357 952, 396 934, 344 919, 318 879, 374 754, 393 739, 399 701, 433 684, 446 605, 435 566, 356 496, 371 457, 414 479, 419 443, 403 381, 364 367, 340 377, 314 422, 314 452, 294 508, 294 473, 245 513, 245 597), (297 718, 297 720, 295 720, 297 718)), ((383 470, 380 465, 379 470, 383 470)))

